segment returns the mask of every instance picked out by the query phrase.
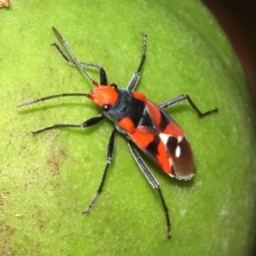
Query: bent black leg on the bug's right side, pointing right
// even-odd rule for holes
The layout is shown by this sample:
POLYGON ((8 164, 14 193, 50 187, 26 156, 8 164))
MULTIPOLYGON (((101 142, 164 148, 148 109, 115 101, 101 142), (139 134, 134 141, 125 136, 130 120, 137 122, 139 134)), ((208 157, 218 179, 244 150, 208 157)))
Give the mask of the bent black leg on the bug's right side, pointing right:
POLYGON ((172 105, 175 105, 177 104, 178 102, 182 102, 184 100, 188 100, 190 106, 195 110, 195 112, 198 114, 198 116, 201 118, 201 117, 204 117, 210 113, 218 113, 218 108, 214 108, 212 110, 209 110, 205 113, 202 113, 199 108, 196 107, 195 103, 191 100, 191 98, 186 95, 186 94, 182 94, 180 96, 177 96, 169 101, 166 101, 166 102, 163 102, 160 104, 160 108, 164 109, 164 108, 169 108, 171 107, 172 105))

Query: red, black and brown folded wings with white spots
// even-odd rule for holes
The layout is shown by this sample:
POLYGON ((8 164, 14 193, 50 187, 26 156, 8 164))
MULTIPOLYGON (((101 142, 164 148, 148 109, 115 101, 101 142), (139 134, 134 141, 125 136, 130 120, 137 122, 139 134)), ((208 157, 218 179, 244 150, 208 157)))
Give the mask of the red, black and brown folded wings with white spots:
POLYGON ((193 177, 194 156, 183 130, 153 102, 146 103, 145 111, 137 131, 128 134, 131 141, 171 177, 193 177))

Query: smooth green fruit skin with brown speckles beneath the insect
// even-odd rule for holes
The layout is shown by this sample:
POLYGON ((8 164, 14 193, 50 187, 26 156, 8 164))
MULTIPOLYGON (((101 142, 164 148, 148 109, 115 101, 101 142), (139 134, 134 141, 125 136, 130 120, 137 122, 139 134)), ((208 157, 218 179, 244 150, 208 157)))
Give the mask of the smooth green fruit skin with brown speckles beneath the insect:
MULTIPOLYGON (((245 75, 216 21, 198 1, 12 1, 0 9, 1 255, 247 255, 255 209, 255 113, 245 75), (90 216, 81 212, 102 177, 108 137, 89 129, 35 131, 81 123, 101 111, 82 97, 17 109, 20 102, 92 86, 50 46, 51 26, 80 61, 106 68, 125 88, 148 34, 137 90, 156 103, 189 94, 167 110, 195 152, 195 177, 177 181, 147 160, 170 209, 172 239, 159 197, 117 136, 106 187, 90 216)), ((97 73, 91 73, 97 79, 97 73)))

